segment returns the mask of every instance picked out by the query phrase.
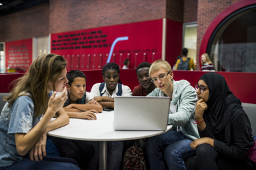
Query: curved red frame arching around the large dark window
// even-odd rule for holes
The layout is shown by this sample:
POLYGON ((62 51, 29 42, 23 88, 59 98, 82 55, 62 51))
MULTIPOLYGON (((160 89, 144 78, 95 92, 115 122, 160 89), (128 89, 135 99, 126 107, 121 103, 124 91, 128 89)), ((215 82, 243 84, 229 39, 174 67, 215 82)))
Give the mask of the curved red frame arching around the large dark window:
MULTIPOLYGON (((206 52, 207 46, 210 40, 210 37, 212 36, 212 33, 218 27, 218 24, 220 24, 227 16, 232 14, 233 12, 236 12, 239 9, 242 9, 243 7, 249 6, 249 5, 254 5, 255 0, 242 0, 238 1, 237 3, 234 3, 233 5, 227 7, 221 14, 218 14, 216 18, 212 21, 210 26, 208 27, 207 31, 205 31, 205 34, 203 35, 203 39, 201 41, 201 47, 200 47, 200 52, 199 52, 199 57, 201 61, 201 55, 206 52)), ((201 62, 199 62, 200 68, 201 68, 201 62)))

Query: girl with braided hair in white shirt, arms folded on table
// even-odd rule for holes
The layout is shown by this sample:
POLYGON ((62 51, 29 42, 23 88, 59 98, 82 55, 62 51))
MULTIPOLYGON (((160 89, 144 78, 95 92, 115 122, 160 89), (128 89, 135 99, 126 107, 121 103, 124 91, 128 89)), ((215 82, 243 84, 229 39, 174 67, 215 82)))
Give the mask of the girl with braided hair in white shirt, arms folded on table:
MULTIPOLYGON (((116 96, 132 96, 130 88, 124 86, 119 78, 119 66, 116 63, 106 63, 103 66, 102 78, 104 82, 94 84, 90 94, 102 105, 103 109, 113 109, 116 96)), ((108 142, 108 170, 119 169, 122 163, 123 149, 124 141, 108 142)))

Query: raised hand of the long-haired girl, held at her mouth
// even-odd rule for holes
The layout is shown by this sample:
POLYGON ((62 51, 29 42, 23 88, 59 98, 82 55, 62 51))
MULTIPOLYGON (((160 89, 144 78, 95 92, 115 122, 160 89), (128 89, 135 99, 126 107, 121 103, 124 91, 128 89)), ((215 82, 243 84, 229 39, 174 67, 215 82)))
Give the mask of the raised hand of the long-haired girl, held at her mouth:
POLYGON ((61 108, 63 107, 65 101, 68 99, 68 92, 66 90, 66 87, 64 88, 64 90, 61 92, 60 95, 58 95, 57 97, 55 97, 55 95, 57 94, 57 92, 53 92, 53 95, 51 95, 49 101, 48 101, 48 109, 51 109, 51 111, 53 111, 51 114, 53 114, 52 116, 55 115, 55 113, 61 108))

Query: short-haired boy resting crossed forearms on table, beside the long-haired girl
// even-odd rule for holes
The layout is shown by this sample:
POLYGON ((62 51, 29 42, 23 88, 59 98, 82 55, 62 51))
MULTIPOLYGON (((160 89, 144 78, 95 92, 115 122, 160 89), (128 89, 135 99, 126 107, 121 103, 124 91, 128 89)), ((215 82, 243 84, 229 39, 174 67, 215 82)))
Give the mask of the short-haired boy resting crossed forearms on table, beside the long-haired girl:
MULTIPOLYGON (((86 77, 82 71, 71 70, 68 78, 68 99, 63 105, 70 118, 97 120, 96 114, 102 112, 100 103, 86 92, 86 77)), ((73 158, 81 169, 98 169, 99 143, 97 141, 79 141, 51 137, 59 152, 65 157, 73 158)))

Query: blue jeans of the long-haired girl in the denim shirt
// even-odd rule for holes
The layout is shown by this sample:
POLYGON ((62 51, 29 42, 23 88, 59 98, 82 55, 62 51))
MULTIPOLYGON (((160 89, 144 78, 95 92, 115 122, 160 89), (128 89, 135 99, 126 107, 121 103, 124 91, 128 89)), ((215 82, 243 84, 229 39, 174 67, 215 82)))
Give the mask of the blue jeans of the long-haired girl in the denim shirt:
POLYGON ((19 160, 0 170, 79 170, 76 160, 72 158, 46 156, 43 160, 32 162, 30 159, 19 160))

